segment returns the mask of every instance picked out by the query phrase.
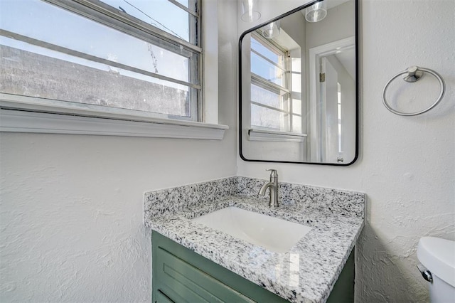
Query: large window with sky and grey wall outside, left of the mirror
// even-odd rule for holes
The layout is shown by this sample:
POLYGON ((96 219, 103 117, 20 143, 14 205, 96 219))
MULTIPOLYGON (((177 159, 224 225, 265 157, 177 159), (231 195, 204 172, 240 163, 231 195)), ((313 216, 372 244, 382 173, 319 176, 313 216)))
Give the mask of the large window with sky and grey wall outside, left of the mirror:
POLYGON ((199 0, 0 6, 2 100, 45 112, 200 121, 199 0))

